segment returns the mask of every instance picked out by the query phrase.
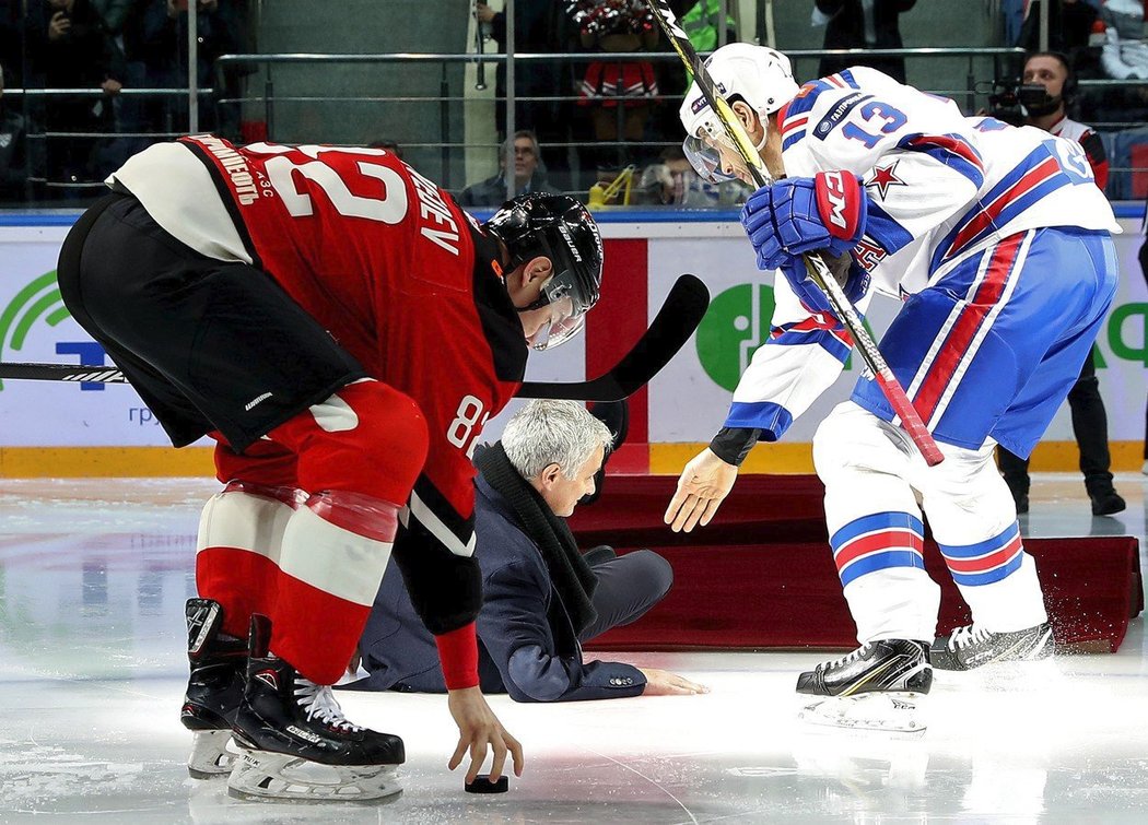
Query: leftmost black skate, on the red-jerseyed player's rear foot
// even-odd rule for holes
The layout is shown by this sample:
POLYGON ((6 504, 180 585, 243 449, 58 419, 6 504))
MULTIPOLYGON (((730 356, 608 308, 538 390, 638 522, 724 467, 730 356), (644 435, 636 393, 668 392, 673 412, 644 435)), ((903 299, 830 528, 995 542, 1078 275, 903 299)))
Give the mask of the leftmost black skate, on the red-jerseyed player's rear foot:
POLYGON ((230 773, 235 761, 227 742, 247 680, 247 641, 220 633, 219 602, 188 599, 184 609, 192 675, 179 719, 195 733, 187 772, 196 779, 209 779, 230 773))

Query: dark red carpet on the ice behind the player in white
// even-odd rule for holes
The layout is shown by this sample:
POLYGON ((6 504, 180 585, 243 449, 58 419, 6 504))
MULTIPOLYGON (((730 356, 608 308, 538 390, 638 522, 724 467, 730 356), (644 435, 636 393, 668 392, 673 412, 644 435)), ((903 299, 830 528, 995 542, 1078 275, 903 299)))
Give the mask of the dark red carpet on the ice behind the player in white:
MULTIPOLYGON (((592 649, 856 646, 825 534, 815 476, 745 475, 709 527, 674 534, 662 513, 676 477, 611 476, 602 498, 571 527, 583 548, 650 547, 674 567, 669 596, 639 621, 596 639, 592 649)), ((1033 538, 1056 640, 1115 652, 1143 609, 1137 539, 1033 538)), ((926 536, 925 567, 941 587, 938 630, 969 622, 968 607, 926 536)))

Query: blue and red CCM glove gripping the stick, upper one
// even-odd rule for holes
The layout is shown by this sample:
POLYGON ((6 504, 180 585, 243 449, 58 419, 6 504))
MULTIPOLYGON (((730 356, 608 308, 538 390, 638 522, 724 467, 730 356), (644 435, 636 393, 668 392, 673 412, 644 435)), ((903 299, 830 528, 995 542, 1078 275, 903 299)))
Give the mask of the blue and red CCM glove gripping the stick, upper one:
POLYGON ((802 252, 837 257, 864 234, 868 195, 852 172, 817 172, 763 186, 742 209, 742 225, 758 254, 758 268, 776 270, 802 252))

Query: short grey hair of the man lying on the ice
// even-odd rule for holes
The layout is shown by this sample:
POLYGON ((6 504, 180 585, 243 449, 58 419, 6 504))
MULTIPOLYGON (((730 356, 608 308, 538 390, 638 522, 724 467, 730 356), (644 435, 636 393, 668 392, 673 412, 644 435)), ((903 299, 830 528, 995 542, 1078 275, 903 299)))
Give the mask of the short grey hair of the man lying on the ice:
POLYGON ((574 478, 596 449, 608 451, 612 442, 610 428, 577 402, 545 399, 514 413, 502 437, 506 458, 523 478, 536 478, 552 464, 574 478))

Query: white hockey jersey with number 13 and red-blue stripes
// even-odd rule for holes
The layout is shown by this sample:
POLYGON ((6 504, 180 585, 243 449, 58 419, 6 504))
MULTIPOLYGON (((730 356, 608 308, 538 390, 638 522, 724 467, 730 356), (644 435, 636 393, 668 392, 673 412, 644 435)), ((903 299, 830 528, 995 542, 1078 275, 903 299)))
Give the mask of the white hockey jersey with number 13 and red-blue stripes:
MULTIPOLYGON (((790 177, 847 170, 869 195, 854 260, 871 290, 905 298, 960 260, 1025 229, 1120 231, 1071 140, 993 118, 964 117, 945 98, 854 68, 805 84, 778 112, 790 177)), ((734 392, 727 427, 776 441, 836 381, 852 341, 775 279, 770 340, 734 392)), ((859 310, 868 305, 868 296, 859 310)))

